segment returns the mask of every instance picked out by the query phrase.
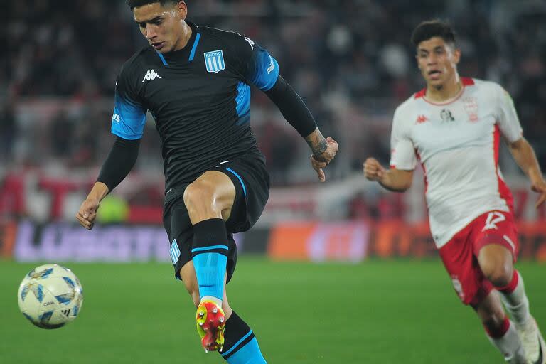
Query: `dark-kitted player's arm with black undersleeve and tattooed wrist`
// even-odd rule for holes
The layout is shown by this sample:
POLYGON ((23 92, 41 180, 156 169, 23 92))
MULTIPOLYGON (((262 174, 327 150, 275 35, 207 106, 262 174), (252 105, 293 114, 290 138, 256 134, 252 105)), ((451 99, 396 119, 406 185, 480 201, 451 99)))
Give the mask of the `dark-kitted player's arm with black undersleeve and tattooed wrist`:
POLYGON ((328 166, 338 151, 338 143, 331 137, 324 138, 316 127, 313 115, 301 97, 289 83, 279 75, 274 86, 265 94, 271 99, 281 112, 284 119, 304 137, 311 147, 311 166, 319 176, 321 182, 326 181, 323 168, 328 166))

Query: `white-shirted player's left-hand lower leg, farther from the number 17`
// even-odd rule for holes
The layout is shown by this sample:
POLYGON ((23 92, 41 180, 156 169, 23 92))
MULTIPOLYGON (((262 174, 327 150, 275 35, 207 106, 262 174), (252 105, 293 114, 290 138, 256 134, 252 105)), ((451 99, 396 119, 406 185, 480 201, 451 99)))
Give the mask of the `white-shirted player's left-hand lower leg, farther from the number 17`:
POLYGON ((489 341, 503 353, 504 360, 511 364, 528 363, 518 332, 506 316, 498 293, 491 291, 473 308, 486 329, 489 341))

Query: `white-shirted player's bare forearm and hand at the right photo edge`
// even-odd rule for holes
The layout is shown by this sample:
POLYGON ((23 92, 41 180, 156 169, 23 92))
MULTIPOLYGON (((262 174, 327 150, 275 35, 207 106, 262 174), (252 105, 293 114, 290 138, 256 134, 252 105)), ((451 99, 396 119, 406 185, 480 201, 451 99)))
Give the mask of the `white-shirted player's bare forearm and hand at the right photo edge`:
POLYGON ((546 181, 542 177, 535 151, 532 150, 532 146, 523 137, 513 143, 508 143, 508 149, 510 149, 515 162, 530 179, 531 190, 540 193, 535 203, 535 208, 539 208, 546 201, 546 181))

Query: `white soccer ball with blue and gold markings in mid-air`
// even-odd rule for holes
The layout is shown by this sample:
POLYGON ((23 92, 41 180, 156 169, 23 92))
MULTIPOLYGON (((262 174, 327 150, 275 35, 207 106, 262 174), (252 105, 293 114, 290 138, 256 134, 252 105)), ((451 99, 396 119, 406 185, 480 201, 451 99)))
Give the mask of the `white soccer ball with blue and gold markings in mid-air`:
POLYGON ((58 264, 28 272, 17 293, 21 313, 40 328, 60 328, 80 313, 83 289, 75 274, 58 264))

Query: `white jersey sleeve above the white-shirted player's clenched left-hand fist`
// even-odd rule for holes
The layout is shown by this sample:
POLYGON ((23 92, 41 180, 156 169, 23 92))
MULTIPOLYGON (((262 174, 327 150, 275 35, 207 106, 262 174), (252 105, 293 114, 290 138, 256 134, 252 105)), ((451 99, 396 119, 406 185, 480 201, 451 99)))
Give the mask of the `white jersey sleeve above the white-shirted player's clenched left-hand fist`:
POLYGON ((405 127, 400 109, 397 109, 392 119, 390 134, 390 168, 412 171, 417 166, 417 158, 409 131, 405 127))

